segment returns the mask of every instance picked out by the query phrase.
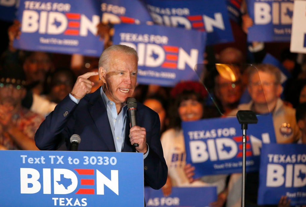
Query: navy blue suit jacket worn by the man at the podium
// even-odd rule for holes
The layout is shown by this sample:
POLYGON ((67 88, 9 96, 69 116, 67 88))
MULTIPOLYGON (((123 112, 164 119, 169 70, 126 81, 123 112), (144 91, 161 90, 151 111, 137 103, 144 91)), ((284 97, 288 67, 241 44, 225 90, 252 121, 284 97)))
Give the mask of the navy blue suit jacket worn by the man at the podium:
MULTIPOLYGON (((129 113, 127 115, 122 152, 136 152, 129 141, 129 113)), ((144 181, 152 188, 159 189, 166 183, 168 173, 160 142, 159 116, 141 103, 137 103, 136 116, 137 125, 146 129, 149 146, 149 153, 144 159, 144 181)), ((66 96, 39 126, 35 143, 40 150, 56 150, 65 140, 69 150, 72 134, 81 137, 79 151, 116 152, 100 88, 84 96, 78 104, 66 96)))

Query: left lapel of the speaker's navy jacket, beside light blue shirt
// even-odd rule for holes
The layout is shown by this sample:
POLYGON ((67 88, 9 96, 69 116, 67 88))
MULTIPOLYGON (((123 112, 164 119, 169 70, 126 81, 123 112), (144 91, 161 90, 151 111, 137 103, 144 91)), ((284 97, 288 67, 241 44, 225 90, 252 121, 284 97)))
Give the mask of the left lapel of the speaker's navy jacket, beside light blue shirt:
POLYGON ((110 152, 116 152, 114 138, 108 121, 106 107, 101 97, 100 88, 93 93, 89 102, 91 103, 89 113, 101 134, 101 139, 104 140, 110 152))

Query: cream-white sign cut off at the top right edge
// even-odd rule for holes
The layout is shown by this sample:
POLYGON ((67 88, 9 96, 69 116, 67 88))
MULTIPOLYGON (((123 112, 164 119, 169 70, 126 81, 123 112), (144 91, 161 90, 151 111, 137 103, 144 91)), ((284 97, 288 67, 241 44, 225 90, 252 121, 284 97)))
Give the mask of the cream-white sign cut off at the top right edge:
POLYGON ((295 0, 293 8, 292 33, 290 41, 290 51, 306 53, 306 2, 295 0))

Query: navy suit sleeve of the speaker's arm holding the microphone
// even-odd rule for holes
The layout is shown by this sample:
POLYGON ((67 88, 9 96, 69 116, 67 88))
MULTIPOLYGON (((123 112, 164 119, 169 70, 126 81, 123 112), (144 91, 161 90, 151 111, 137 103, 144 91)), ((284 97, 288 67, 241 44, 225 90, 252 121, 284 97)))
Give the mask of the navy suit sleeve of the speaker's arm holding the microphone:
POLYGON ((166 183, 168 167, 160 142, 159 116, 155 114, 153 119, 151 134, 147 138, 147 144, 150 150, 148 156, 144 159, 144 181, 153 189, 157 190, 166 183))

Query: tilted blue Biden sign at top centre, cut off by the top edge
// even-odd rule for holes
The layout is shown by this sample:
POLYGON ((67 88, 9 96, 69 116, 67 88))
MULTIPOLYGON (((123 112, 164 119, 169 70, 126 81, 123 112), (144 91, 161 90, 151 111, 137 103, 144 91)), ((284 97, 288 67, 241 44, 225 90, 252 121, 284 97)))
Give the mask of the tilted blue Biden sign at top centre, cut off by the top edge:
POLYGON ((144 0, 156 24, 207 32, 207 44, 233 41, 225 0, 144 0))

